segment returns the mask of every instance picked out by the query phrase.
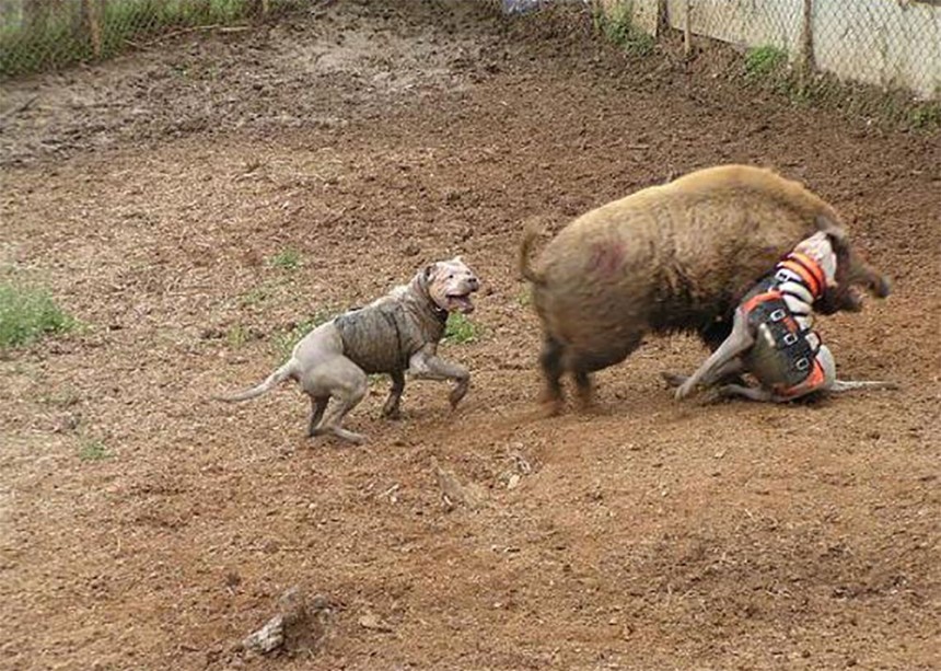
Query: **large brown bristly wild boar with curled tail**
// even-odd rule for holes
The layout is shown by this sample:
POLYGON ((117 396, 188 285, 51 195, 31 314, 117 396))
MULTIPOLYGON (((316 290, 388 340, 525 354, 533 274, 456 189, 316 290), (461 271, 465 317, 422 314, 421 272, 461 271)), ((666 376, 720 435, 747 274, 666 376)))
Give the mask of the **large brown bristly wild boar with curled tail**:
POLYGON ((528 227, 519 261, 543 325, 547 409, 561 408, 566 372, 590 404, 590 373, 623 361, 647 333, 695 333, 715 349, 745 292, 816 231, 840 257, 821 312, 859 310, 855 286, 888 294, 830 205, 748 165, 699 170, 586 212, 546 246, 537 268, 530 256, 538 231, 528 227))

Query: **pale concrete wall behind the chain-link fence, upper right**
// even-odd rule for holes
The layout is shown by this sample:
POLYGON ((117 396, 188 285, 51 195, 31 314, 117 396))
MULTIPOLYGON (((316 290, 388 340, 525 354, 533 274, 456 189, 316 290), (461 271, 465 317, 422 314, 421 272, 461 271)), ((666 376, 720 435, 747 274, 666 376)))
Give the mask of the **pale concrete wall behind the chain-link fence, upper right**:
MULTIPOLYGON (((740 46, 771 45, 801 54, 804 0, 664 0, 667 23, 740 46)), ((653 32, 660 0, 604 0, 629 7, 653 32)), ((919 0, 812 0, 810 28, 817 69, 856 81, 902 86, 941 100, 941 4, 919 0)))

